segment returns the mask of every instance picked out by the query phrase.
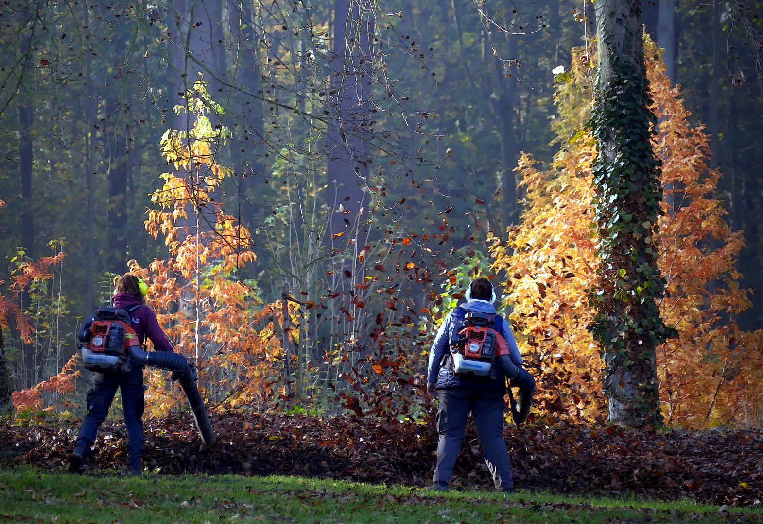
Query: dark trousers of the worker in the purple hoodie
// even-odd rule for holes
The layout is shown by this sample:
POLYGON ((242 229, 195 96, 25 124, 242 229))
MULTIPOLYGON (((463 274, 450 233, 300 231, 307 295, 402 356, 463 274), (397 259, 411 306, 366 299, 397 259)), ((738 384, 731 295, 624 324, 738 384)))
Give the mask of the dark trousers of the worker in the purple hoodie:
MULTIPOLYGON (((122 392, 124 425, 127 427, 127 468, 140 470, 143 458, 143 366, 126 373, 98 373, 93 388, 88 391, 88 414, 79 427, 74 452, 85 458, 98 435, 98 427, 108 416, 108 408, 117 388, 122 392)), ((97 376, 97 375, 96 375, 97 376)))

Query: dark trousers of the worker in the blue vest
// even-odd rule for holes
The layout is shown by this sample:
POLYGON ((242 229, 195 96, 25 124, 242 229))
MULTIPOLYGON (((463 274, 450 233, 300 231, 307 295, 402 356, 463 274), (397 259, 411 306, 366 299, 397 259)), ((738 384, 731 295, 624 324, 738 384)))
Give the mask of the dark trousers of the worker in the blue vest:
POLYGON ((432 481, 447 484, 461 451, 469 413, 475 419, 477 436, 485 455, 485 464, 493 475, 497 490, 513 488, 511 460, 504 441, 504 395, 471 388, 437 390, 437 465, 432 481))

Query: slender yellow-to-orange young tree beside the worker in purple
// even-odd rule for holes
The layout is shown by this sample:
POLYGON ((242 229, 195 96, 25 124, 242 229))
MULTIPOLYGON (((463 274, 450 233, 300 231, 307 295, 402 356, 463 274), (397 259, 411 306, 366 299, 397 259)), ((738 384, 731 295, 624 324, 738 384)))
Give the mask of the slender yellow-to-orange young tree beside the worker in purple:
MULTIPOLYGON (((159 208, 150 210, 145 222, 154 238, 165 237, 169 257, 147 268, 135 260, 128 266, 148 284, 147 303, 175 350, 195 361, 202 394, 212 405, 235 407, 269 400, 282 385, 276 367, 281 341, 275 331, 281 305, 262 307, 258 289, 237 278, 237 270, 255 255, 250 231, 214 200, 215 188, 230 175, 215 159, 217 144, 229 132, 211 126, 207 113, 219 107, 203 81, 194 92, 192 130, 170 129, 162 139, 162 152, 175 172, 162 175, 164 186, 152 195, 159 208)), ((146 375, 150 415, 182 405, 184 397, 179 386, 170 385, 168 372, 146 369, 146 375)))

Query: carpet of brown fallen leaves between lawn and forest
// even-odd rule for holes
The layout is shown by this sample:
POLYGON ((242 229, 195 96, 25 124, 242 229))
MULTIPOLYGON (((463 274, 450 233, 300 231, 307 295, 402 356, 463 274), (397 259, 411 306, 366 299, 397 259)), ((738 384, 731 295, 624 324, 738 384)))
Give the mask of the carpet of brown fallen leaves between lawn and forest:
MULTIPOLYGON (((189 414, 146 420, 143 464, 165 474, 289 474, 423 486, 436 460, 428 425, 354 416, 214 414, 219 439, 203 449, 189 414)), ((77 427, 0 427, 0 466, 60 469, 77 427)), ((108 420, 90 463, 121 468, 124 427, 108 420)), ((757 506, 763 500, 763 433, 631 430, 616 426, 507 427, 515 486, 556 493, 628 494, 757 506)), ((489 487, 468 427, 452 485, 489 487)))

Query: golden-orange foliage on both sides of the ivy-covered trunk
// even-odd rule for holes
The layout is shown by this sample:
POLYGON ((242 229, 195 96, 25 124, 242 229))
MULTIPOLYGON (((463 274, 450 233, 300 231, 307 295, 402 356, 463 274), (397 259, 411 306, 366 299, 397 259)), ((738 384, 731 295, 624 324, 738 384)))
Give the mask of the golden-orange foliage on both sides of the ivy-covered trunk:
MULTIPOLYGON (((763 331, 745 333, 736 314, 749 307, 739 289, 736 257, 742 232, 732 232, 716 197, 721 172, 707 166, 710 137, 691 126, 681 89, 671 88, 658 50, 645 43, 652 98, 659 119, 653 143, 662 160, 665 216, 658 222, 658 266, 667 280, 659 303, 679 336, 658 347, 665 422, 689 427, 763 423, 763 331)), ((520 346, 539 369, 539 407, 562 418, 602 420, 600 349, 588 332, 594 315, 588 292, 600 289, 591 228, 594 140, 585 123, 593 90, 590 56, 573 53, 559 76, 552 124, 561 150, 549 171, 530 155, 517 171, 526 212, 508 240, 494 239, 494 268, 506 270, 507 303, 520 346)))

